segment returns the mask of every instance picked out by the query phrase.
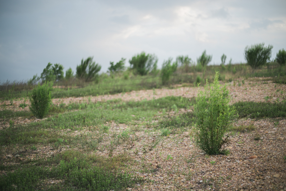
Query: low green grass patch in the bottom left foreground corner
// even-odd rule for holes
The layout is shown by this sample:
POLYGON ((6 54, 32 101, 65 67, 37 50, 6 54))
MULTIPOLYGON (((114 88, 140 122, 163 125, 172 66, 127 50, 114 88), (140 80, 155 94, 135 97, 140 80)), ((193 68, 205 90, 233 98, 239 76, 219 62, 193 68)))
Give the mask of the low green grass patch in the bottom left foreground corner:
POLYGON ((41 190, 47 188, 45 182, 51 178, 64 180, 59 182, 61 190, 122 190, 141 183, 142 178, 127 172, 121 173, 116 170, 105 170, 93 166, 87 159, 73 158, 61 160, 51 170, 48 167, 26 166, 7 175, 0 176, 0 190, 41 190))

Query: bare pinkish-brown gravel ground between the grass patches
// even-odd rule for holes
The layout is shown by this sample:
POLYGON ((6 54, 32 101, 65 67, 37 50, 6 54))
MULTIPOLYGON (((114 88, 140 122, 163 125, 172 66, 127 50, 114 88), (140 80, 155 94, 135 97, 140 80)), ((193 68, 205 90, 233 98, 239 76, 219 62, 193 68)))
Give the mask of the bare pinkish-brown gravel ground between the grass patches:
MULTIPOLYGON (((238 101, 275 102, 285 99, 286 95, 286 85, 274 84, 265 78, 238 79, 231 82, 228 88, 231 103, 238 101)), ((97 102, 118 98, 123 101, 141 101, 170 95, 192 98, 196 97, 197 92, 197 87, 178 87, 96 97, 53 99, 53 103, 97 102)), ((5 109, 27 110, 28 107, 19 108, 22 102, 23 100, 15 101, 13 106, 6 106, 5 109)), ((153 123, 156 124, 166 119, 167 115, 172 116, 184 112, 187 110, 159 112, 154 116, 153 123)), ((31 123, 38 120, 20 117, 15 120, 15 123, 31 123)), ((228 131, 226 135, 229 136, 230 143, 225 145, 230 152, 228 155, 206 155, 199 150, 193 142, 192 128, 186 129, 183 133, 166 133, 166 136, 160 136, 162 131, 156 130, 152 125, 146 125, 144 119, 141 118, 127 124, 107 121, 104 125, 109 127, 108 133, 104 134, 103 141, 100 143, 104 146, 110 145, 114 133, 133 132, 130 133, 129 138, 122 139, 122 143, 112 149, 98 149, 91 152, 104 157, 123 154, 131 158, 132 162, 126 164, 125 170, 138 174, 146 181, 127 190, 286 190, 286 163, 283 160, 286 155, 286 119, 242 118, 233 121, 232 127, 253 125, 255 130, 228 131), (259 140, 255 140, 257 136, 260 136, 259 140)), ((5 128, 5 125, 1 124, 1 126, 5 128)), ((65 136, 87 136, 96 133, 97 129, 93 126, 86 126, 78 131, 70 129, 57 131, 48 129, 47 131, 65 136)), ((39 144, 36 145, 36 150, 23 150, 23 153, 17 156, 15 153, 17 147, 15 147, 7 149, 4 153, 4 165, 48 158, 68 149, 82 151, 69 145, 55 149, 52 145, 39 144)), ((7 172, 1 172, 3 173, 7 172)), ((59 181, 48 180, 46 184, 57 184, 59 181)))

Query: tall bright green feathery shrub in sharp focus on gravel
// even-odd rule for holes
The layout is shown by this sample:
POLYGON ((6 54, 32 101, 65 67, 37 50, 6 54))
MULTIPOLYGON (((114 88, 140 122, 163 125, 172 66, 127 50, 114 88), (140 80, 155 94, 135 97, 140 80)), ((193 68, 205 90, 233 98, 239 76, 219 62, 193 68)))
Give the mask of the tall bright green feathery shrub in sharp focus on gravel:
POLYGON ((214 82, 207 82, 204 91, 199 92, 196 101, 194 110, 197 118, 197 146, 209 155, 225 153, 225 150, 221 150, 227 143, 224 134, 235 108, 229 106, 229 90, 226 84, 219 83, 219 72, 216 72, 214 82))

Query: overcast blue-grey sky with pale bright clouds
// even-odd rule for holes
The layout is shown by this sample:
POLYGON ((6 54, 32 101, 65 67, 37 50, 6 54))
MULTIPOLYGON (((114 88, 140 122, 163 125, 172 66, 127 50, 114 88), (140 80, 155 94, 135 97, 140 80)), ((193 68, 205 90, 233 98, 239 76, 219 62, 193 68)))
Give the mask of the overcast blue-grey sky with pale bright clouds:
POLYGON ((93 56, 106 72, 142 51, 164 60, 206 50, 210 64, 245 62, 252 44, 286 49, 286 1, 0 0, 0 82, 38 76, 49 62, 76 71, 93 56))

